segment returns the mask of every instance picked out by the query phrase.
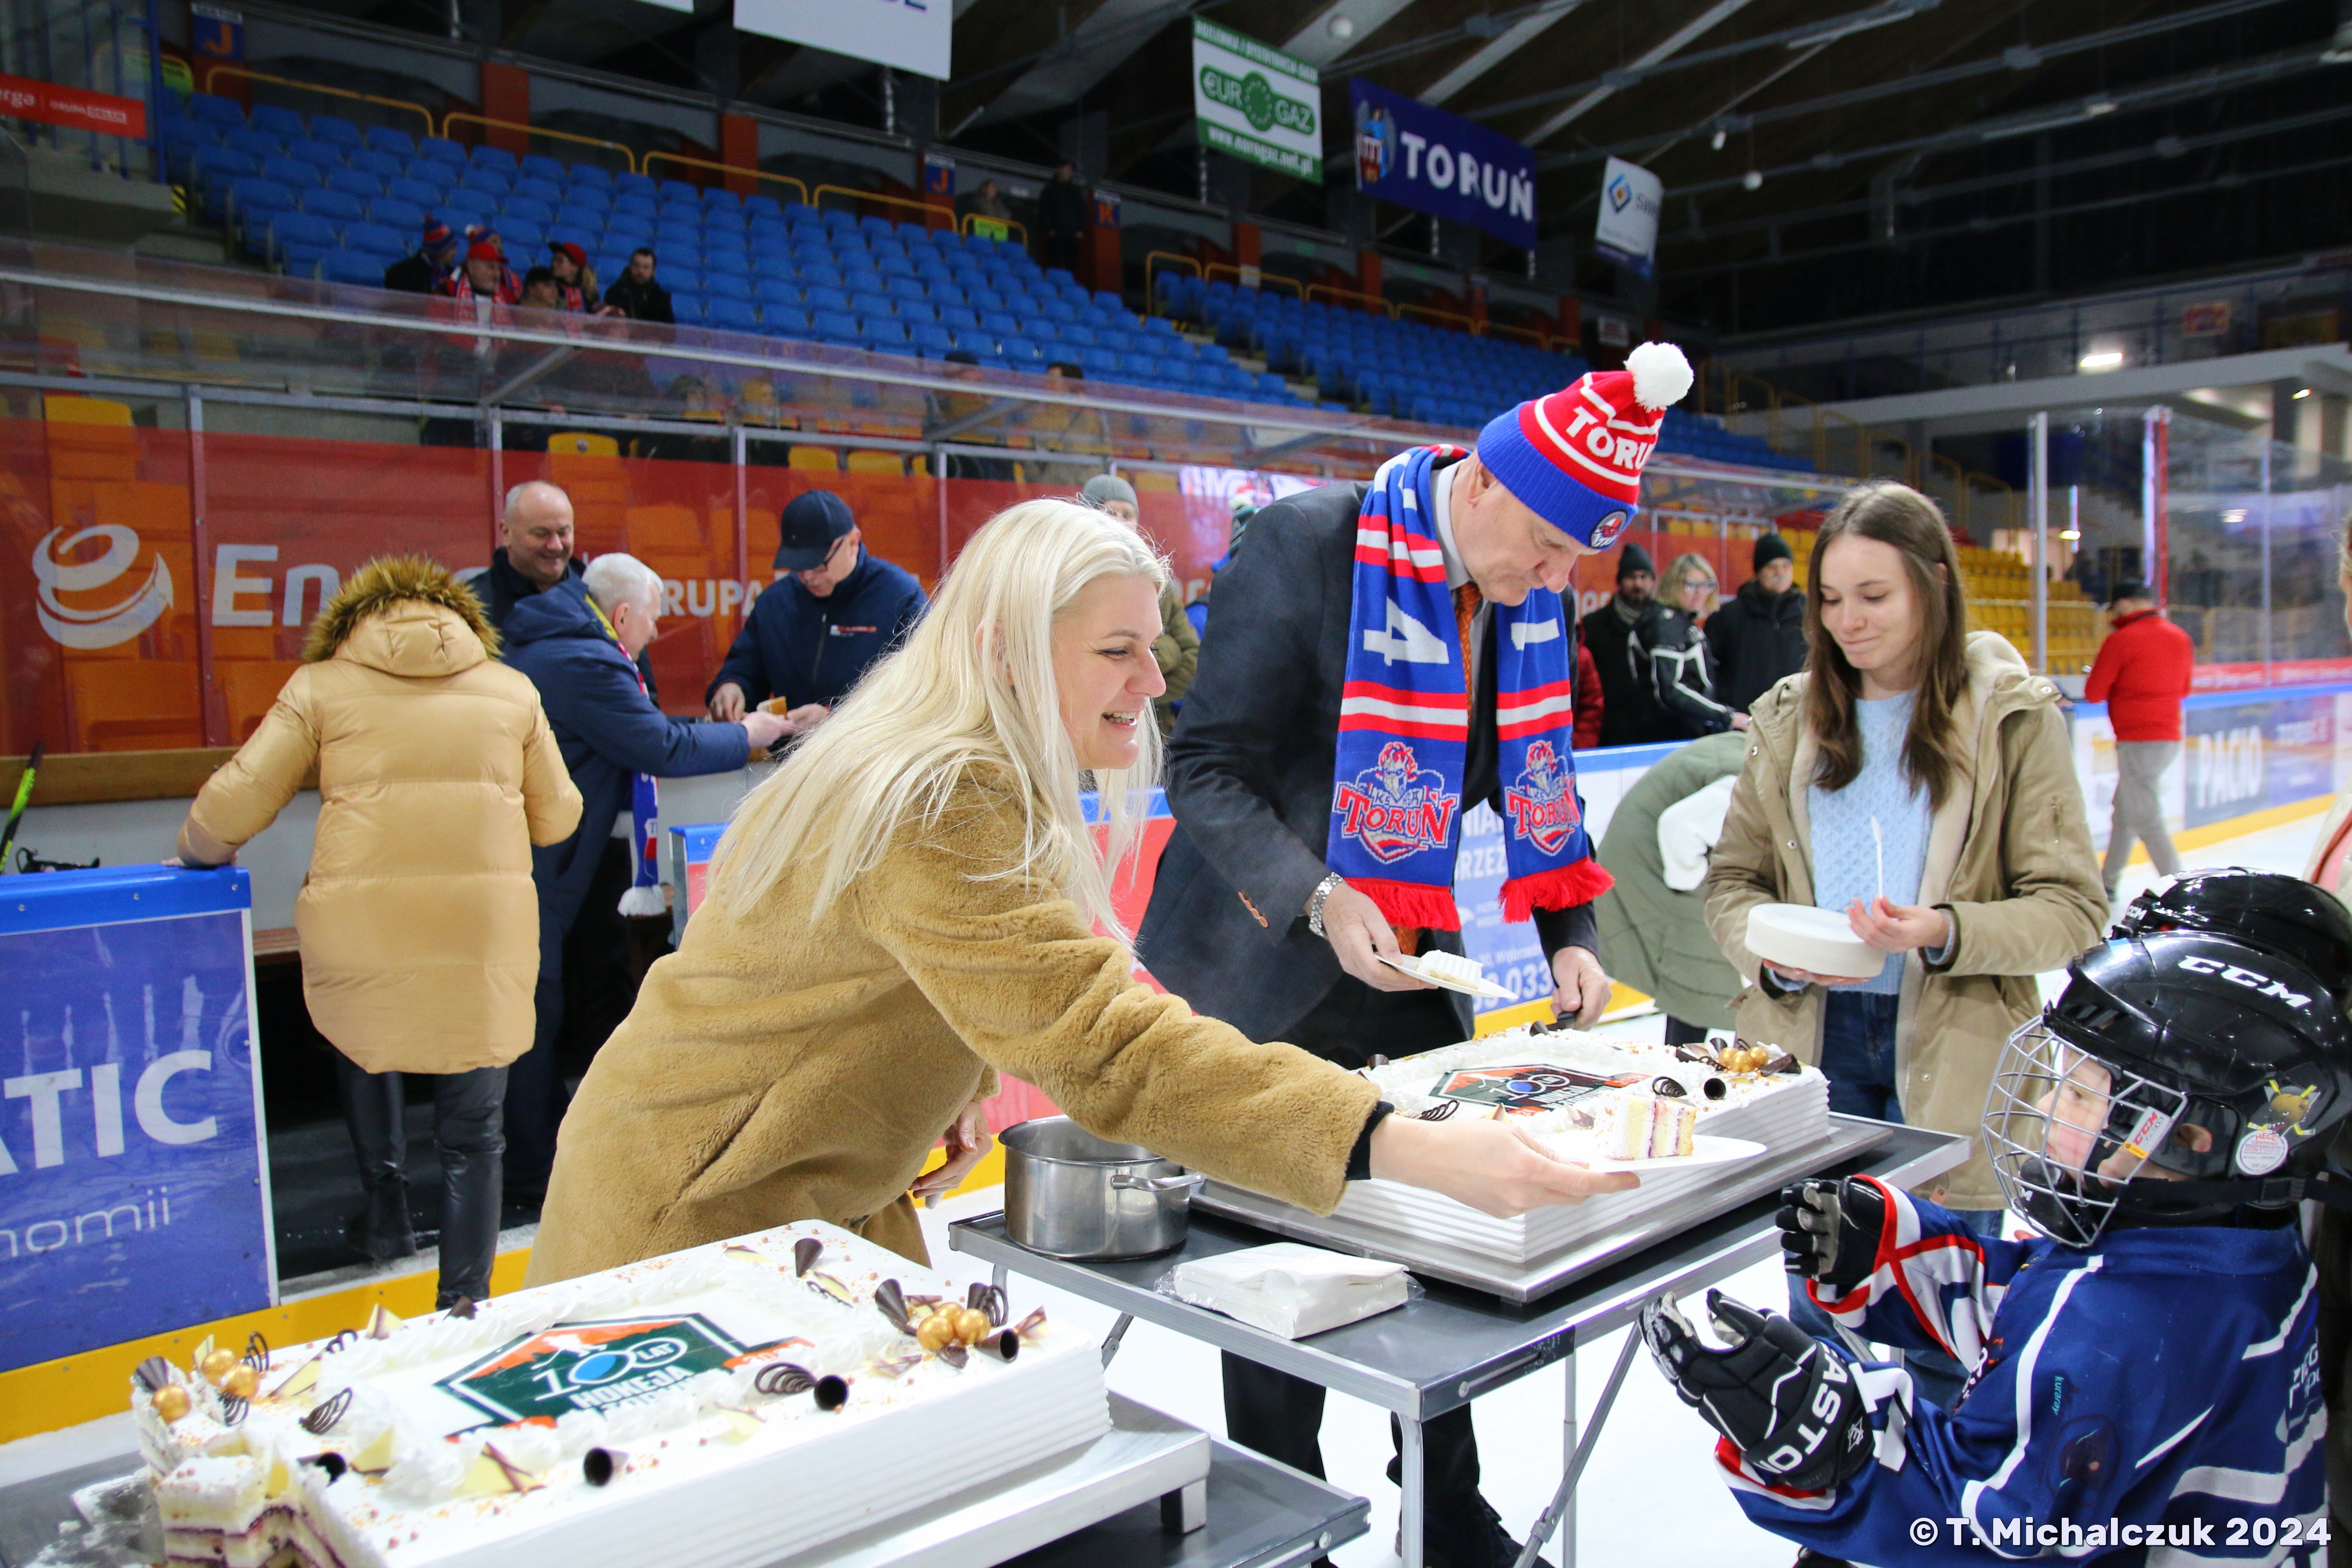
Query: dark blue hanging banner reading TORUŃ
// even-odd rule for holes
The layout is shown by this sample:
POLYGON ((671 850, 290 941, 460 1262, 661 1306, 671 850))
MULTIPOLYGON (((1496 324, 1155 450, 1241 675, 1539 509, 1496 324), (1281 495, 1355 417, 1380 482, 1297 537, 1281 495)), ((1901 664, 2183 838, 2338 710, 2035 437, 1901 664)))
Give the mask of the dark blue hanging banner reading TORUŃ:
POLYGON ((1355 188, 1536 249, 1536 155, 1484 125, 1348 78, 1355 188))

